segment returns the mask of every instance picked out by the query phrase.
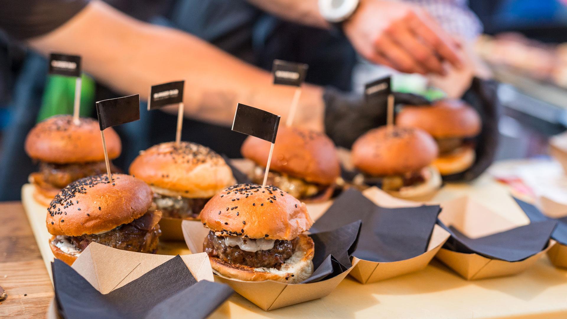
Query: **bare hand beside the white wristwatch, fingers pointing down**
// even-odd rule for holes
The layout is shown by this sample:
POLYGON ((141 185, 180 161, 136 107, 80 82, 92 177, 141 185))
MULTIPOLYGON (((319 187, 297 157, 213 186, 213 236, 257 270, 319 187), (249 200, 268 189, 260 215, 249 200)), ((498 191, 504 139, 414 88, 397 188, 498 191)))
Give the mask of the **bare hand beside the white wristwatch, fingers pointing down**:
POLYGON ((359 54, 401 72, 445 74, 444 62, 463 65, 459 44, 425 11, 407 3, 361 0, 343 28, 359 54))

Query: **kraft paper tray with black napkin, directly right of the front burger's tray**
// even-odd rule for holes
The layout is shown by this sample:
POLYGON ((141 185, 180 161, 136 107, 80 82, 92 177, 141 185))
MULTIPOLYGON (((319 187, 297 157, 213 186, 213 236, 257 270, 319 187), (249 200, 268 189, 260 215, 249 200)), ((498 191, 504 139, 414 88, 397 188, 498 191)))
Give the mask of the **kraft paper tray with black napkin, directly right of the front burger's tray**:
MULTIPOLYGON (((378 187, 368 188, 363 191, 362 194, 374 202, 374 204, 386 208, 417 207, 421 205, 420 203, 393 198, 386 192, 379 190, 378 187)), ((422 270, 429 264, 431 259, 435 257, 435 254, 437 254, 449 237, 450 234, 447 230, 439 225, 435 225, 431 239, 429 240, 428 250, 425 251, 425 253, 396 262, 373 262, 354 257, 356 266, 350 271, 349 275, 353 276, 359 282, 366 284, 422 270)))

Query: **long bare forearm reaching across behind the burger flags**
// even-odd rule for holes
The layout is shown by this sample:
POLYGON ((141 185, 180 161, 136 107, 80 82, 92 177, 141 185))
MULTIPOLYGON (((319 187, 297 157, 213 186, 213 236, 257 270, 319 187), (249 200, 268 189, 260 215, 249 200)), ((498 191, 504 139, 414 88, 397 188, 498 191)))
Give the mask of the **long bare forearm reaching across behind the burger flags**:
MULTIPOLYGON (((230 125, 236 103, 287 116, 293 90, 272 85, 270 73, 187 33, 129 18, 92 2, 64 26, 29 41, 38 51, 80 54, 83 69, 123 94, 147 99, 149 87, 185 79, 185 115, 230 125)), ((320 87, 305 85, 294 124, 321 130, 320 87)))

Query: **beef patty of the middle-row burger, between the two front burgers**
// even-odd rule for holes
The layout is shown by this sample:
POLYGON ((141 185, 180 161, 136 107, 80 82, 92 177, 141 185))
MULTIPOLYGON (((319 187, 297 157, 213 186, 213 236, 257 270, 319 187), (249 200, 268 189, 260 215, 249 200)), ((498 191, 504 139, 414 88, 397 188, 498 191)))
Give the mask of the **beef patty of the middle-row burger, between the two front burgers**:
POLYGON ((154 193, 154 203, 162 211, 163 217, 198 219, 209 198, 184 198, 154 193))

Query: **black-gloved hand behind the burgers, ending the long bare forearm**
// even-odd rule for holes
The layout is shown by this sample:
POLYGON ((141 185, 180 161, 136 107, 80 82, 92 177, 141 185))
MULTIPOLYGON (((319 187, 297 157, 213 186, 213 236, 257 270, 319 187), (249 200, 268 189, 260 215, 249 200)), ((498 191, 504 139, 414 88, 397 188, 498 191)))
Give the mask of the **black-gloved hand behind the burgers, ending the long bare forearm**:
MULTIPOLYGON (((409 93, 393 93, 395 103, 426 105, 429 100, 409 93)), ((350 148, 369 129, 386 124, 387 96, 365 101, 362 94, 325 87, 325 133, 337 146, 350 148)))

